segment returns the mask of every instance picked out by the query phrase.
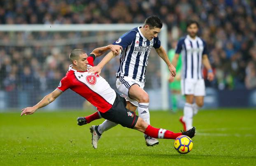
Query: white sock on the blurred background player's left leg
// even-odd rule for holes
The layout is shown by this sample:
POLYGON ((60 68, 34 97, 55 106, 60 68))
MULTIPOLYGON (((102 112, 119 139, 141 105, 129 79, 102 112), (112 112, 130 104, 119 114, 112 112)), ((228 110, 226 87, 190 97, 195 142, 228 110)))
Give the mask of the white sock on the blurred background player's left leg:
POLYGON ((193 123, 193 105, 185 103, 184 106, 184 116, 182 119, 186 124, 186 130, 189 130, 192 127, 193 123))

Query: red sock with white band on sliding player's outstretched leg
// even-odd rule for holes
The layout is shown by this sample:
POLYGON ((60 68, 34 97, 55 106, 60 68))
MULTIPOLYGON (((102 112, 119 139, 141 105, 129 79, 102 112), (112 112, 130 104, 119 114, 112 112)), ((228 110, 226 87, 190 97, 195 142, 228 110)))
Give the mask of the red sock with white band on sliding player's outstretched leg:
POLYGON ((169 130, 152 127, 151 125, 147 127, 144 134, 147 134, 148 136, 151 136, 153 138, 159 138, 159 139, 176 139, 178 136, 182 135, 181 132, 174 133, 169 130))

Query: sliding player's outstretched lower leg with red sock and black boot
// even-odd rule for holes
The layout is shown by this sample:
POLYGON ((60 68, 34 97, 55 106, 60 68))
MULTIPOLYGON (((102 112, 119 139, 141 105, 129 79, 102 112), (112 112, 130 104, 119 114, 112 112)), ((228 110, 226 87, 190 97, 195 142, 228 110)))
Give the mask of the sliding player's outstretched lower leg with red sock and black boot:
POLYGON ((190 138, 193 138, 195 136, 195 127, 192 127, 188 131, 174 133, 170 130, 155 128, 147 124, 140 117, 138 118, 137 123, 133 129, 139 130, 140 132, 144 132, 144 134, 147 134, 148 136, 159 139, 176 139, 180 135, 186 135, 189 136, 190 138))

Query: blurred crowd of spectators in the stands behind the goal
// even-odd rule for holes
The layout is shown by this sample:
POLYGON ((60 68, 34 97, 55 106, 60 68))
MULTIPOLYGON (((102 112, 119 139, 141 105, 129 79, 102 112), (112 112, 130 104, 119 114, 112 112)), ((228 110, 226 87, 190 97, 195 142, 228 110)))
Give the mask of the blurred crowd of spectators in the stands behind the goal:
MULTIPOLYGON (((0 24, 143 23, 151 15, 158 15, 168 26, 169 48, 186 34, 186 20, 198 20, 200 36, 207 43, 216 74, 215 81, 207 82, 208 86, 220 90, 256 88, 256 2, 253 0, 0 1, 0 24)), ((0 32, 0 89, 56 88, 70 64, 67 55, 72 48, 84 48, 88 52, 114 40, 48 48, 30 41, 37 38, 54 43, 86 35, 86 32, 51 36, 46 32, 0 32)), ((102 34, 98 32, 98 35, 102 34)), ((147 73, 151 72, 150 68, 153 70, 149 67, 147 73)), ((115 87, 115 72, 112 65, 105 67, 104 75, 112 87, 115 87)))

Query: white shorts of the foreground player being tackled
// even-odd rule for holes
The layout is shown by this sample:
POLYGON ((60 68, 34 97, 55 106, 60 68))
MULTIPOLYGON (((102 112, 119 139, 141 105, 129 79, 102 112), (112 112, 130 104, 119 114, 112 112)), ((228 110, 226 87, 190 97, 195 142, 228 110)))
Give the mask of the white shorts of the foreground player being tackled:
POLYGON ((133 80, 133 78, 126 77, 126 76, 119 77, 116 79, 116 88, 118 89, 118 91, 122 93, 122 95, 126 99, 126 101, 129 101, 133 105, 138 107, 139 103, 136 100, 129 98, 129 95, 128 95, 129 89, 133 84, 138 84, 143 89, 145 82, 133 80))

